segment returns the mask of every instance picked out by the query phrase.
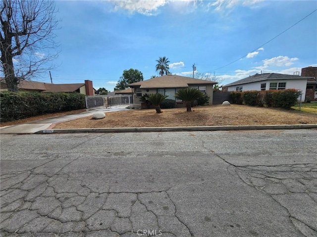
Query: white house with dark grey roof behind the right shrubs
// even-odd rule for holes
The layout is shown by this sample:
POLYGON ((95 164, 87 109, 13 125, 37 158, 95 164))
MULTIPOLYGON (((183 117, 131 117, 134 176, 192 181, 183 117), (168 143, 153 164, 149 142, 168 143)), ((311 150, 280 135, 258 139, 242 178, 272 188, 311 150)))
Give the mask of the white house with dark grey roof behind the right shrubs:
POLYGON ((314 77, 302 77, 278 73, 255 74, 245 79, 222 86, 223 91, 247 91, 247 90, 283 90, 297 89, 302 91, 302 102, 305 101, 306 85, 308 79, 314 77))

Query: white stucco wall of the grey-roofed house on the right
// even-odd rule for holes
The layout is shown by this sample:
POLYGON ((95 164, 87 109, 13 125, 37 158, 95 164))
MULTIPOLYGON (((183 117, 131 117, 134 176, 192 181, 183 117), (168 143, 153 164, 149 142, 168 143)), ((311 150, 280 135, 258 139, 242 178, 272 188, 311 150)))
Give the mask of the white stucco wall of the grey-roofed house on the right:
POLYGON ((305 93, 306 93, 306 84, 307 84, 307 79, 292 79, 292 80, 263 80, 263 81, 256 81, 256 82, 251 82, 248 84, 241 84, 241 85, 233 85, 233 86, 228 86, 228 91, 236 91, 237 86, 242 86, 242 91, 247 91, 247 90, 261 90, 261 84, 266 83, 266 88, 265 90, 269 89, 269 83, 270 82, 286 82, 286 89, 297 89, 302 91, 302 102, 305 101, 305 93))

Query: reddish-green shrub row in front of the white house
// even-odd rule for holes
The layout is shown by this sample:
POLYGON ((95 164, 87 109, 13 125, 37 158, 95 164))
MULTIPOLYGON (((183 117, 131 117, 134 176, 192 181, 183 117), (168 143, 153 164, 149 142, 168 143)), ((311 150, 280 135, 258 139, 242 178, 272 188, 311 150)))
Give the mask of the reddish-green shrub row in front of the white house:
POLYGON ((266 90, 266 91, 233 91, 231 97, 233 104, 266 106, 290 109, 297 103, 301 92, 296 89, 266 90))

